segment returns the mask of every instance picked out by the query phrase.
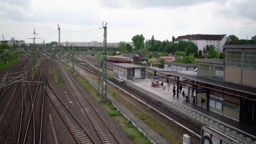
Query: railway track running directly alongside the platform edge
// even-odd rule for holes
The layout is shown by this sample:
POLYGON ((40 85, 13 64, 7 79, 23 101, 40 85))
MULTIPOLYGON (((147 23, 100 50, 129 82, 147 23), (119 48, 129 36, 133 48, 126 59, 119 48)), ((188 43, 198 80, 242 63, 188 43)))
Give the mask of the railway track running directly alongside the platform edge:
MULTIPOLYGON (((101 75, 101 72, 99 72, 95 67, 90 67, 90 65, 88 64, 83 66, 88 69, 91 69, 91 71, 95 72, 96 74, 101 75)), ((145 93, 134 91, 127 85, 121 84, 117 80, 114 80, 110 77, 107 77, 107 78, 110 83, 113 83, 117 87, 122 88, 127 93, 130 93, 131 95, 135 96, 137 99, 143 101, 144 103, 149 104, 151 107, 153 107, 157 111, 163 113, 164 115, 170 117, 172 120, 175 120, 176 122, 183 125, 186 130, 189 130, 190 133, 195 134, 197 137, 200 137, 202 125, 198 123, 194 123, 192 122, 192 120, 188 120, 187 117, 183 117, 179 115, 179 113, 174 111, 173 109, 165 107, 164 105, 160 104, 158 101, 150 99, 145 93)))

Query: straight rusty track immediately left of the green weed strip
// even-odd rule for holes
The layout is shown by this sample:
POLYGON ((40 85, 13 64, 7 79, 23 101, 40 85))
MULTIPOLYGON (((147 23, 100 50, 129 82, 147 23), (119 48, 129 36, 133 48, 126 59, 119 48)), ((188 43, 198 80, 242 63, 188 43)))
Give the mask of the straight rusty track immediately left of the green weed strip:
MULTIPOLYGON (((63 66, 61 65, 61 67, 63 66)), ((99 115, 99 112, 97 112, 97 110, 93 107, 93 104, 91 104, 91 102, 88 100, 88 97, 85 96, 83 91, 76 84, 75 80, 72 78, 72 76, 70 76, 69 72, 67 72, 67 69, 61 69, 61 71, 63 72, 70 88, 79 101, 79 104, 83 109, 84 117, 88 118, 89 123, 91 123, 93 126, 93 129, 96 131, 101 142, 103 144, 120 144, 120 141, 117 139, 108 125, 104 122, 102 117, 99 115)))

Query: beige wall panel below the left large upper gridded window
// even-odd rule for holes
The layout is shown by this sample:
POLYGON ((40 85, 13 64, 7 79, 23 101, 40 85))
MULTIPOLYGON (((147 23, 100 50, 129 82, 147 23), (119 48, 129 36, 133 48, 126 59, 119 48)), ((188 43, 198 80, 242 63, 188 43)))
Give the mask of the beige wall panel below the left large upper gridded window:
POLYGON ((225 67, 224 81, 229 83, 241 84, 241 68, 225 67))

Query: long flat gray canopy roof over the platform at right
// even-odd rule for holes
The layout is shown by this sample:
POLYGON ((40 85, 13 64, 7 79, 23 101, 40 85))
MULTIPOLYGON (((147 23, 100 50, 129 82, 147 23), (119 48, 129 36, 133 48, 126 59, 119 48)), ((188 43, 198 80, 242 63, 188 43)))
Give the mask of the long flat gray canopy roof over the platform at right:
POLYGON ((184 77, 188 80, 195 80, 198 82, 202 82, 202 83, 207 83, 210 85, 215 85, 215 86, 219 86, 222 88, 228 88, 234 91, 240 91, 243 93, 248 93, 248 94, 252 94, 252 95, 256 95, 256 88, 252 88, 252 87, 248 87, 245 85, 237 85, 234 83, 228 83, 228 82, 222 82, 222 81, 218 81, 218 80, 212 80, 212 79, 208 79, 208 78, 203 78, 203 77, 197 77, 197 76, 193 76, 193 75, 187 75, 187 74, 183 74, 180 72, 165 72, 165 74, 171 74, 174 76, 178 76, 178 77, 184 77))

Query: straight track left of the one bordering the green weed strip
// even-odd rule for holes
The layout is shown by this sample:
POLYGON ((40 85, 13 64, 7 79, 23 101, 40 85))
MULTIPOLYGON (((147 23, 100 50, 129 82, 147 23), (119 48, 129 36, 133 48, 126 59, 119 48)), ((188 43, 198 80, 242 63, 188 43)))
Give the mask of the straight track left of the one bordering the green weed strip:
POLYGON ((85 130, 83 125, 77 120, 77 118, 72 114, 72 112, 57 95, 57 93, 53 90, 51 84, 48 81, 47 74, 46 81, 46 93, 56 108, 57 112, 59 113, 61 119, 67 125, 67 128, 74 137, 75 141, 78 144, 96 144, 92 136, 85 130))

